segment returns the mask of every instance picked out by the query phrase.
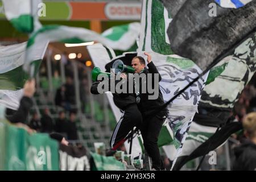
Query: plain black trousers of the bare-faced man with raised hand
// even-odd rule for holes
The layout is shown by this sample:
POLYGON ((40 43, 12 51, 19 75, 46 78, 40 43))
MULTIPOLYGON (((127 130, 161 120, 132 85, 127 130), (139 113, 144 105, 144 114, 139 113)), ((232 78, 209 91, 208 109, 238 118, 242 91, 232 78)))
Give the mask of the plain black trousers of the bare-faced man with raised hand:
POLYGON ((140 127, 143 144, 148 156, 152 159, 152 168, 160 170, 160 152, 158 148, 158 137, 162 125, 166 119, 166 111, 162 111, 152 117, 143 115, 142 126, 140 127))

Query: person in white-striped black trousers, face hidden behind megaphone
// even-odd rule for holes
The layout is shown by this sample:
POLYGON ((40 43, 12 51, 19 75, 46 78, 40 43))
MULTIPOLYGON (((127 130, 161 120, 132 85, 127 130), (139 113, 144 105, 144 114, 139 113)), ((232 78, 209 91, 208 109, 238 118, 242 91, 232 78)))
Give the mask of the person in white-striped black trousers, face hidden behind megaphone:
MULTIPOLYGON (((121 77, 125 78, 127 76, 125 73, 121 73, 121 77)), ((119 81, 115 81, 115 85, 117 85, 118 82, 119 81)), ((100 81, 96 81, 92 84, 90 88, 90 92, 92 94, 100 94, 97 90, 98 84, 100 84, 100 81)), ((133 130, 135 126, 138 127, 142 125, 142 115, 138 110, 138 106, 135 102, 135 95, 133 93, 127 92, 118 94, 115 92, 113 93, 113 100, 114 104, 122 111, 122 116, 115 126, 112 137, 110 139, 110 147, 112 150, 117 150, 118 144, 122 143, 127 134, 129 134, 129 132, 133 130)))

